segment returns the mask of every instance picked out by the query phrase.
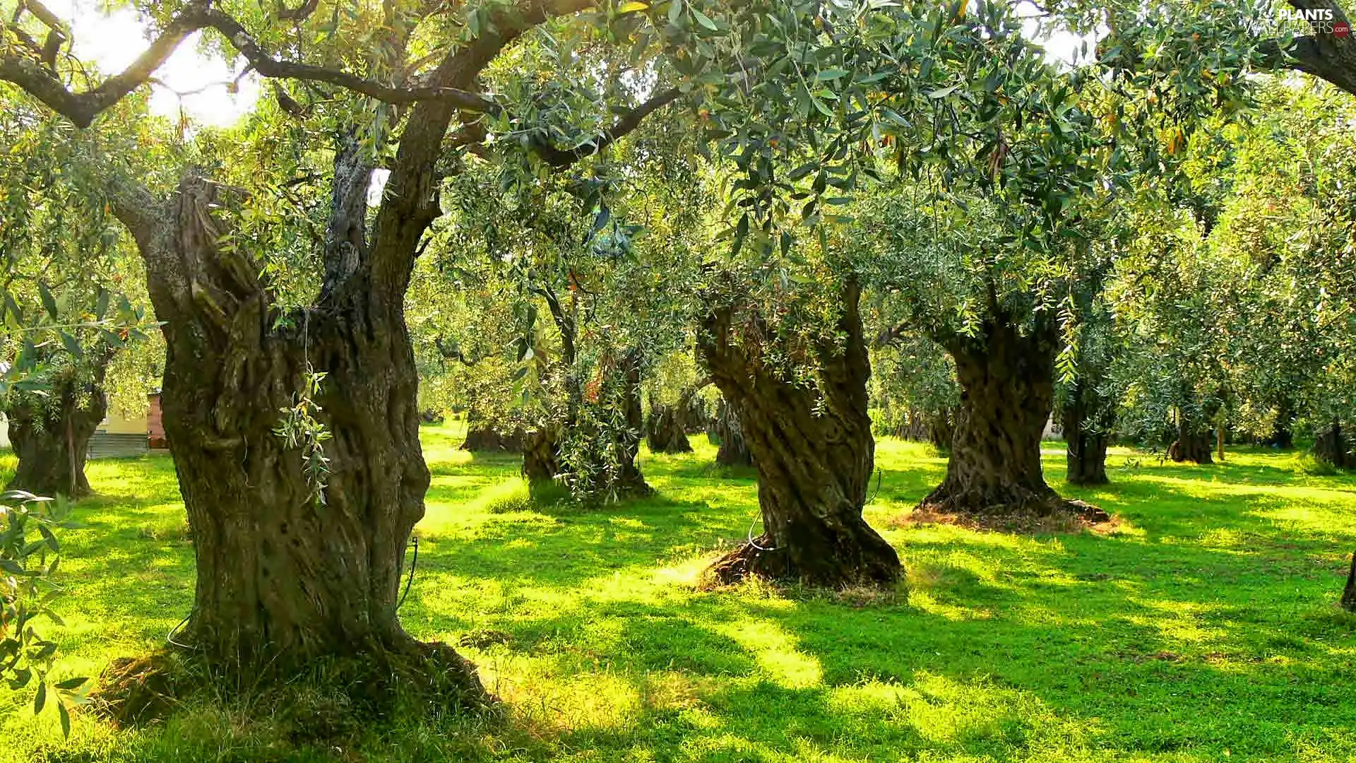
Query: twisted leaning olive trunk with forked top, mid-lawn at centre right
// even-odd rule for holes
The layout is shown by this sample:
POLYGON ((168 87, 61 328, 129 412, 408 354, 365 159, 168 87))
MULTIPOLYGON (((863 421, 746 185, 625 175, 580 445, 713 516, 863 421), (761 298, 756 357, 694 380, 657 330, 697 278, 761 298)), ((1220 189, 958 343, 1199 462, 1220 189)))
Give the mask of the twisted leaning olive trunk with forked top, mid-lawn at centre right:
POLYGON ((861 516, 875 468, 866 414, 871 365, 860 291, 843 291, 838 329, 845 343, 814 350, 819 394, 788 383, 743 343, 750 334, 766 341, 757 315, 716 307, 704 320, 698 353, 738 410, 758 468, 763 521, 761 536, 712 565, 716 582, 759 576, 837 588, 891 584, 900 576, 895 550, 861 516))

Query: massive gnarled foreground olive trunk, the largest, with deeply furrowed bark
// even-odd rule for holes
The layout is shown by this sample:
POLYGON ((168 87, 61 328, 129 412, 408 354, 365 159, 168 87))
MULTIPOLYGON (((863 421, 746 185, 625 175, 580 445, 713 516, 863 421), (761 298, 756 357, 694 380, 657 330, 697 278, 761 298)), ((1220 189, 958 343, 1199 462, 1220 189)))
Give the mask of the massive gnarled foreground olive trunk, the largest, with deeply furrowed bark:
MULTIPOLYGON (((416 642, 396 615, 428 486, 403 303, 435 202, 384 206, 369 246, 370 172, 354 144, 339 152, 324 285, 289 320, 277 320, 248 255, 218 246, 225 227, 213 210, 232 191, 190 175, 163 205, 145 191, 119 198, 163 320, 164 428, 197 557, 178 642, 224 676, 285 679, 316 660, 354 658, 479 703, 485 692, 469 663, 416 642), (312 371, 327 375, 319 407, 298 405, 312 371), (305 417, 289 425, 285 409, 328 429, 327 460, 308 453, 305 417)), ((388 200, 414 193, 408 175, 392 174, 388 200)))

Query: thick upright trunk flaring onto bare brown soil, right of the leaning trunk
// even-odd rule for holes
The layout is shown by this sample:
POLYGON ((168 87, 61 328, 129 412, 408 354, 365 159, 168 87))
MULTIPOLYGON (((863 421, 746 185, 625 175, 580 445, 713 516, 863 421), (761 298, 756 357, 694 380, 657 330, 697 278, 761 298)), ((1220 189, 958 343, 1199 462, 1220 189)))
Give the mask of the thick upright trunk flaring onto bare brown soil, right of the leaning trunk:
POLYGON ((1022 335, 1013 322, 991 319, 976 337, 945 342, 956 361, 960 413, 946 477, 921 508, 960 515, 1105 513, 1066 501, 1045 483, 1040 437, 1055 395, 1058 331, 1022 335))

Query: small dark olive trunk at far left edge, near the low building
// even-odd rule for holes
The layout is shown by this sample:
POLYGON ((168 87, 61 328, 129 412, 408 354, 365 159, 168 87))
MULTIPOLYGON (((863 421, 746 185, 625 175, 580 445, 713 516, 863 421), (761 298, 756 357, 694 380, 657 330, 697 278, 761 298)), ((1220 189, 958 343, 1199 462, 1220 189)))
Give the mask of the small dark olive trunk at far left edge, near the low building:
POLYGON ((7 490, 35 496, 83 498, 89 437, 108 411, 103 391, 107 360, 98 360, 88 377, 58 375, 47 395, 16 394, 5 409, 9 445, 19 464, 7 490))

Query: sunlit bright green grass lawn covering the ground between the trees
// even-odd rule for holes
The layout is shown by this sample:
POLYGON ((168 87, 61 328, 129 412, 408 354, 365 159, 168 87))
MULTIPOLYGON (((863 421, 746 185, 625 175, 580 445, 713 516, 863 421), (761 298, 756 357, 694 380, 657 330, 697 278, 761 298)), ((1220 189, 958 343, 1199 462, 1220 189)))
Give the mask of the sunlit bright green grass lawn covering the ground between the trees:
MULTIPOLYGON (((1356 618, 1334 604, 1351 475, 1264 451, 1207 467, 1116 451, 1112 486, 1074 490, 1047 444, 1055 486, 1120 524, 1031 538, 895 521, 945 464, 885 440, 866 516, 907 593, 700 592, 757 506, 751 475, 709 468, 704 441, 644 458, 658 497, 598 510, 540 508, 515 458, 458 441, 424 430, 434 477, 401 615, 420 638, 473 635, 462 652, 502 714, 397 721, 339 749, 296 747, 271 709, 205 706, 144 730, 79 718, 62 741, 0 688, 0 760, 1356 760, 1356 618)), ((100 496, 65 535, 62 675, 156 648, 191 600, 170 460, 89 477, 100 496)))

